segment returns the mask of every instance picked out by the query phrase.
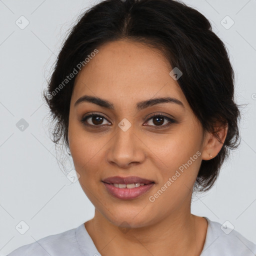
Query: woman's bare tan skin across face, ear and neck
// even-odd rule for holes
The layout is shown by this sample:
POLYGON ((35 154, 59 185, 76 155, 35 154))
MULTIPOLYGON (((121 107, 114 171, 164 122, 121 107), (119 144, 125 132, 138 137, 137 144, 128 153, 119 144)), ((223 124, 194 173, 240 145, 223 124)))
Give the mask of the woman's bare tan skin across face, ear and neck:
MULTIPOLYGON (((209 154, 215 157, 222 143, 203 133, 160 50, 128 40, 108 42, 98 50, 75 78, 69 112, 69 149, 79 183, 95 206, 94 217, 84 226, 102 256, 199 255, 207 221, 190 213, 192 187, 201 160, 211 159, 209 154), (114 110, 92 102, 74 106, 83 95, 106 99, 114 110), (139 101, 166 96, 183 106, 165 102, 136 109, 139 101), (105 119, 88 118, 84 122, 91 126, 86 126, 81 119, 91 112, 105 119), (154 113, 175 121, 163 119, 157 125, 150 118, 154 113), (118 126, 123 118, 131 124, 126 131, 118 126), (198 158, 155 201, 149 201, 197 151, 198 158), (135 175, 155 184, 135 199, 122 200, 110 195, 101 181, 115 175, 135 175)), ((222 142, 226 131, 226 127, 218 131, 222 142)))

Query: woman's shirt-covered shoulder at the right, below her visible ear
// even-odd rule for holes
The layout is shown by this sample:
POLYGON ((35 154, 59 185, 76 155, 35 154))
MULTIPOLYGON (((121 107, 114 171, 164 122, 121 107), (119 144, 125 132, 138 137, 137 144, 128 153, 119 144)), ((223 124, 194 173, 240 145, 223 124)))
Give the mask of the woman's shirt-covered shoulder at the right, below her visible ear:
MULTIPOLYGON (((206 218, 206 217, 205 217, 206 218)), ((246 239, 242 234, 223 224, 208 222, 207 234, 201 256, 253 256, 256 255, 256 244, 246 239)), ((230 222, 229 222, 230 223, 230 222)))

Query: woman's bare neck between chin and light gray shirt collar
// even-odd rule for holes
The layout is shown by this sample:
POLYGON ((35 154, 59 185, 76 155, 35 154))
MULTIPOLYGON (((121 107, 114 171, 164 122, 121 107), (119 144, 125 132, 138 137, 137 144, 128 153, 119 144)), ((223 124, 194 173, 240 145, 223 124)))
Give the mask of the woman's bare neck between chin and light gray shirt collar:
POLYGON ((102 256, 108 255, 199 255, 207 221, 189 211, 173 212, 152 225, 119 228, 95 210, 85 228, 102 256), (100 235, 99 235, 100 234, 100 235))

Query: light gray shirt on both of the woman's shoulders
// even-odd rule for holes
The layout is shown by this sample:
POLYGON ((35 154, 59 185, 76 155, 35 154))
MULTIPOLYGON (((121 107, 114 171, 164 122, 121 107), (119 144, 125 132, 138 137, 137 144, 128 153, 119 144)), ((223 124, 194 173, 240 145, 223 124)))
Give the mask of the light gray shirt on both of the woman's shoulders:
MULTIPOLYGON (((255 256, 256 244, 226 225, 208 222, 200 256, 255 256)), ((13 250, 6 256, 101 256, 84 223, 62 233, 49 235, 13 250)))

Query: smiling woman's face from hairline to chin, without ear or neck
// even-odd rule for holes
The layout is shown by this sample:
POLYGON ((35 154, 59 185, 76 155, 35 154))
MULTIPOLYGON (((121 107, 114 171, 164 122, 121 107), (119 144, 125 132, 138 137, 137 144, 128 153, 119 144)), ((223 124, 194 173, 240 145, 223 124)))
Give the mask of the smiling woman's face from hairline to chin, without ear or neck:
POLYGON ((169 74, 172 67, 160 51, 138 42, 109 42, 93 56, 75 78, 68 126, 83 191, 115 225, 125 221, 130 227, 146 226, 190 213, 206 142, 201 124, 169 74), (108 104, 76 102, 84 95, 108 104), (151 101, 166 97, 172 100, 151 101), (143 186, 143 181, 131 179, 126 183, 135 187, 122 188, 103 182, 112 176, 137 176, 153 183, 143 186))

